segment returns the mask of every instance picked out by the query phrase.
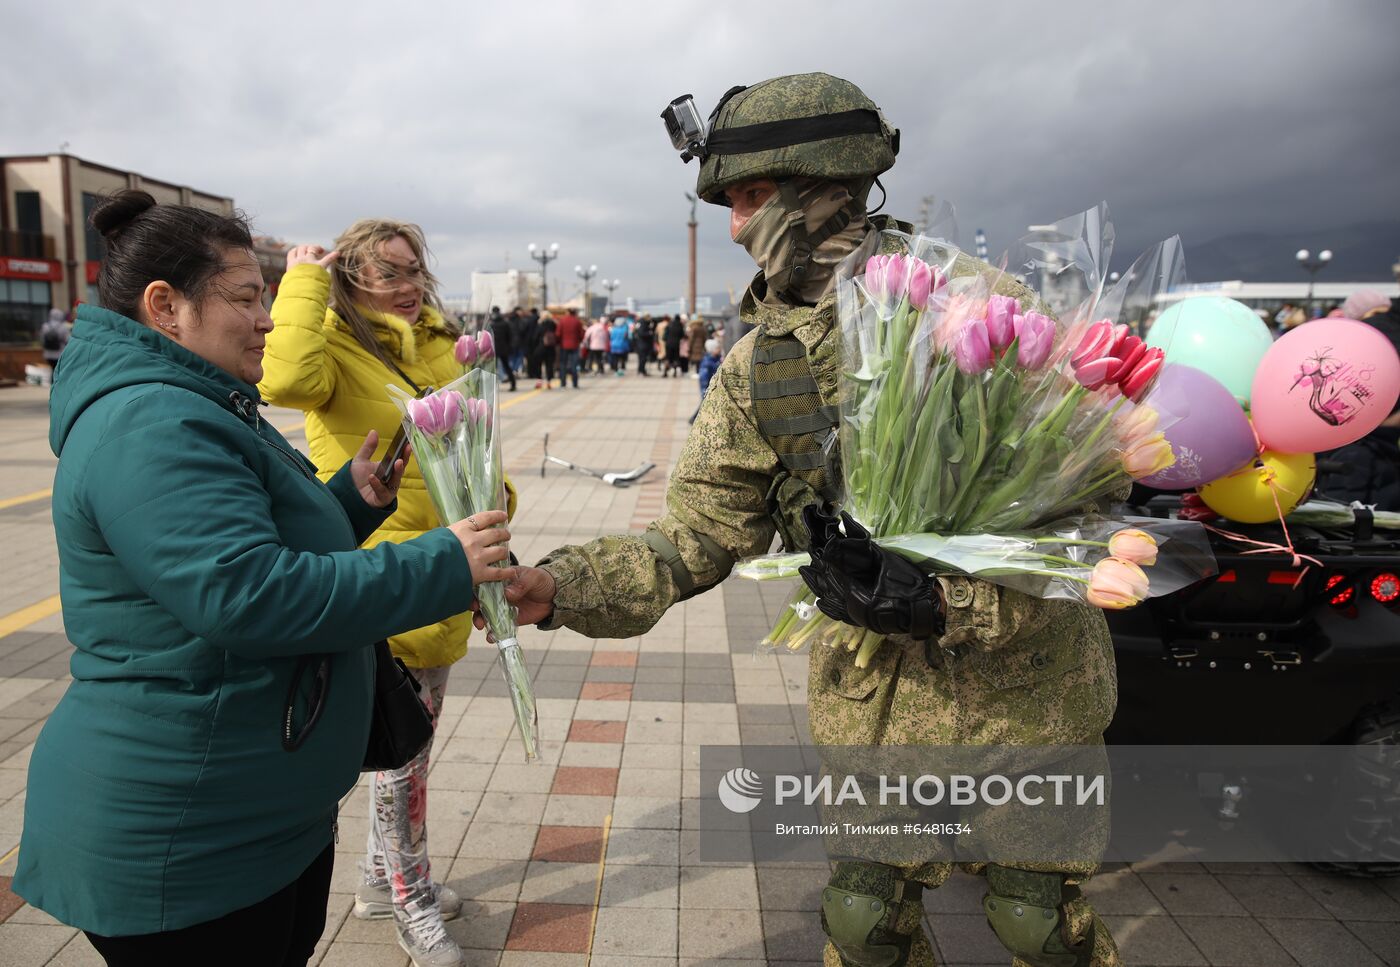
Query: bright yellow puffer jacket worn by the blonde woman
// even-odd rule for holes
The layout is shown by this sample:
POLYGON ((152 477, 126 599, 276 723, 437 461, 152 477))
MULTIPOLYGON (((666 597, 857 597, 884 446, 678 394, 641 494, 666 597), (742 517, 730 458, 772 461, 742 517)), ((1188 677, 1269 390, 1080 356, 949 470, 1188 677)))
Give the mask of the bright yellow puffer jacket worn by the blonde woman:
MULTIPOLYGON (((330 476, 349 460, 364 435, 379 431, 382 458, 399 428, 399 410, 389 400, 386 383, 413 392, 398 372, 371 355, 329 306, 330 273, 316 264, 287 271, 272 304, 276 327, 267 334, 259 392, 269 403, 307 413, 311 460, 330 476)), ((452 355, 455 337, 433 309, 424 308, 417 325, 378 312, 367 312, 379 344, 419 386, 442 386, 462 375, 452 355)), ((508 511, 515 512, 515 488, 505 483, 508 511)), ((407 540, 440 526, 423 486, 417 460, 409 460, 399 490, 399 509, 364 542, 407 540)), ((465 595, 463 595, 465 598, 465 595)), ((472 616, 456 614, 389 640, 395 655, 412 668, 451 665, 466 654, 472 616)))

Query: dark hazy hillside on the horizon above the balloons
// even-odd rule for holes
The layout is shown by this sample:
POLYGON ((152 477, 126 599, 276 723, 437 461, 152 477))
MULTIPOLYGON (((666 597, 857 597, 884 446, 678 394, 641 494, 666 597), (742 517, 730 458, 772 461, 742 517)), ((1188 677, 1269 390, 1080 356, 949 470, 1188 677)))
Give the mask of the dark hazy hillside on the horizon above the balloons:
POLYGON ((1327 231, 1246 232, 1186 246, 1186 271, 1194 283, 1288 281, 1303 278, 1298 249, 1331 249, 1331 264, 1317 280, 1390 281, 1400 260, 1400 221, 1371 221, 1327 231))

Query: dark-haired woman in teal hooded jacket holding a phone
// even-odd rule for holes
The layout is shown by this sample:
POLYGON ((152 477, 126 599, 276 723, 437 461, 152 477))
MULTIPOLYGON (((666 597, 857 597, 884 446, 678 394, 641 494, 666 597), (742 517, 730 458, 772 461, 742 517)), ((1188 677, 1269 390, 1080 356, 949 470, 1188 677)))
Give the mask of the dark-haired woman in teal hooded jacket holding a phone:
POLYGON ((508 577, 505 515, 357 550, 402 463, 375 479, 371 434, 322 484, 259 416, 272 320, 242 220, 122 192, 92 224, 105 308, 78 309, 50 397, 73 683, 34 749, 13 889, 108 964, 305 964, 370 645, 508 577), (326 662, 294 689, 305 655, 326 662))

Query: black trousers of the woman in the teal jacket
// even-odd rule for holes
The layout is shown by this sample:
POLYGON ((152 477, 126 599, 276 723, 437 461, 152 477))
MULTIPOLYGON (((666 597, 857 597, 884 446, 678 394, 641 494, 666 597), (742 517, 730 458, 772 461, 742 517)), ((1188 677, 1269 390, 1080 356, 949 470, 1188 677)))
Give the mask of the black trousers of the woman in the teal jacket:
POLYGON ((179 931, 139 936, 88 933, 108 967, 305 967, 326 928, 335 844, 295 882, 266 900, 179 931))

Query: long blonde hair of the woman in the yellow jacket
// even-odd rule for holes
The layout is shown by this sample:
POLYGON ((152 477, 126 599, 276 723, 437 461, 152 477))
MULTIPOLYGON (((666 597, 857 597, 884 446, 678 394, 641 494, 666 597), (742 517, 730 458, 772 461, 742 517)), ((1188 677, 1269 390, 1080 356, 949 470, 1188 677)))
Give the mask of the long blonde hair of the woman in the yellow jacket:
POLYGON ((368 274, 371 266, 379 280, 398 274, 398 266, 384 257, 384 246, 395 238, 407 242, 419 260, 416 285, 423 294, 423 305, 435 309, 442 316, 442 323, 455 333, 455 327, 442 311, 442 301, 438 298, 437 276, 428 270, 431 253, 423 230, 409 221, 361 218, 336 239, 336 250, 340 252, 340 257, 330 263, 330 308, 350 326, 356 341, 384 362, 389 362, 389 358, 384 354, 379 340, 375 339, 374 325, 365 315, 367 308, 357 299, 363 298, 361 294, 375 284, 375 280, 368 274))

